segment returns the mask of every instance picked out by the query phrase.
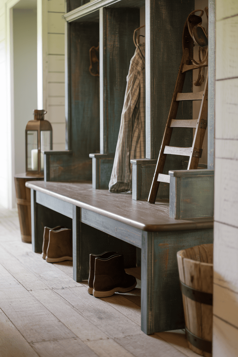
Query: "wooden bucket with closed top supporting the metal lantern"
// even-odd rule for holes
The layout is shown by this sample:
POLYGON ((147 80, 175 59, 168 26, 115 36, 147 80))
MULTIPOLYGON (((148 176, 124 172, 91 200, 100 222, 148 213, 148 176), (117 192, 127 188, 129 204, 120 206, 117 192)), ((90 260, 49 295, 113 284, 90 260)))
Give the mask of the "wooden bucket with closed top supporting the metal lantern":
POLYGON ((16 187, 16 199, 21 230, 21 240, 31 243, 31 190, 25 186, 27 181, 42 180, 43 177, 26 176, 18 174, 14 176, 16 187))

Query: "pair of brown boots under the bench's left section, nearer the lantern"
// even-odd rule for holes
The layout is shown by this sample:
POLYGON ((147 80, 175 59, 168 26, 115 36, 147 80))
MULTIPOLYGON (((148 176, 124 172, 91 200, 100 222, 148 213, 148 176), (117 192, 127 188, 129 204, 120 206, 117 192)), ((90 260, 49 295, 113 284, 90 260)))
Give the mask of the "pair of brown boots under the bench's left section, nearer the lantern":
POLYGON ((41 256, 48 263, 73 260, 72 230, 64 226, 44 227, 41 256))

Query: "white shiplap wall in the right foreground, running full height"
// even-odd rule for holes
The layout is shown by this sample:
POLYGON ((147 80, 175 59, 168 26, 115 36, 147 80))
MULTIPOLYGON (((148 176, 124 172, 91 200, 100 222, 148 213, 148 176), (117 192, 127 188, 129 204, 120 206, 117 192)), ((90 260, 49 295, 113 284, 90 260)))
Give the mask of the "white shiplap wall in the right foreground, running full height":
POLYGON ((213 357, 238 356, 238 1, 216 1, 213 357))

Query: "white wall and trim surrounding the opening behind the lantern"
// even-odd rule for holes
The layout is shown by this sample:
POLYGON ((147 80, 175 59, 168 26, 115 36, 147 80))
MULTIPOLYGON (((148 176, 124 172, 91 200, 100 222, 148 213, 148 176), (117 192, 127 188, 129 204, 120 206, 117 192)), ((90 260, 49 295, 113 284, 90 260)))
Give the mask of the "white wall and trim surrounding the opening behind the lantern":
MULTIPOLYGON (((22 171, 22 166, 15 163, 14 149, 12 7, 32 9, 35 6, 36 0, 0 0, 0 205, 9 208, 14 206, 15 201, 15 169, 22 171)), ((61 18, 64 12, 64 0, 37 0, 37 109, 47 110, 45 119, 52 123, 55 150, 65 149, 65 21, 61 18)), ((31 117, 26 121, 29 119, 31 117)), ((21 129, 19 124, 19 130, 21 129)), ((23 129, 25 130, 25 124, 23 129)), ((22 142, 16 141, 16 145, 22 147, 22 142)), ((16 154, 19 154, 17 147, 16 154)), ((25 153, 22 154, 24 157, 25 153)))

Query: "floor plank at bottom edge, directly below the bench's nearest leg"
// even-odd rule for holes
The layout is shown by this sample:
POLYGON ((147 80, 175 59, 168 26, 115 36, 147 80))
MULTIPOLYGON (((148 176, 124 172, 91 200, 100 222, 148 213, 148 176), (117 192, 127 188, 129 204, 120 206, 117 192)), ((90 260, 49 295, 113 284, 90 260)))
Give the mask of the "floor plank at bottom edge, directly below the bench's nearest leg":
POLYGON ((142 335, 116 338, 115 341, 136 357, 184 357, 183 353, 166 343, 157 334, 148 336, 143 333, 142 335))

